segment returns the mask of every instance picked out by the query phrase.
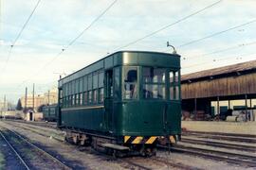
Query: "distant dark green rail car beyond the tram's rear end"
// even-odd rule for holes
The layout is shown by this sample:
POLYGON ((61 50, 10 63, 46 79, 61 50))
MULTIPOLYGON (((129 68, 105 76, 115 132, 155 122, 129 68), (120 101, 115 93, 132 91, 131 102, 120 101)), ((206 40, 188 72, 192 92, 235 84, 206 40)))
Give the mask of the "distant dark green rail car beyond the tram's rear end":
POLYGON ((57 104, 47 105, 43 107, 43 120, 56 122, 58 119, 59 107, 57 104))

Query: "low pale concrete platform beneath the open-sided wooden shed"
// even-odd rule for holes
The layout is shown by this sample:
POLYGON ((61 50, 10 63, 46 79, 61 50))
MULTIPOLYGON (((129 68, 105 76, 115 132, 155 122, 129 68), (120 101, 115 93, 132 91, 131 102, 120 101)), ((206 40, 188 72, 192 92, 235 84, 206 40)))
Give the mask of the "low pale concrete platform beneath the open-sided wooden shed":
POLYGON ((256 135, 256 122, 182 121, 181 127, 192 131, 256 135))

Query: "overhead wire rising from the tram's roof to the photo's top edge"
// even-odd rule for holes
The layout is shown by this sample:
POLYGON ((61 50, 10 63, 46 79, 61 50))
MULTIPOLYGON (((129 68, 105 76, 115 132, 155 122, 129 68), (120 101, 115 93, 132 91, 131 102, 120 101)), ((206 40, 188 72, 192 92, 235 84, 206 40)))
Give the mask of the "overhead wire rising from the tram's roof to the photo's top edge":
POLYGON ((175 21, 174 23, 169 24, 169 25, 167 25, 167 26, 162 26, 161 28, 159 28, 159 29, 157 29, 157 30, 155 30, 155 31, 153 31, 153 32, 151 32, 151 33, 149 33, 149 34, 147 34, 147 35, 145 35, 145 36, 143 36, 143 37, 141 37, 141 38, 139 38, 139 39, 133 41, 133 42, 129 42, 129 43, 123 45, 123 46, 120 46, 120 47, 116 48, 114 51, 118 51, 118 50, 121 49, 121 48, 125 48, 125 47, 127 47, 127 46, 132 45, 132 44, 135 44, 135 43, 137 43, 137 42, 140 42, 140 41, 142 41, 142 40, 144 40, 144 39, 146 39, 146 38, 149 38, 149 37, 155 35, 156 33, 160 32, 160 31, 162 31, 162 30, 165 30, 165 29, 167 29, 167 28, 169 28, 169 27, 171 27, 171 26, 174 26, 174 25, 176 25, 176 24, 182 22, 182 21, 185 21, 185 20, 191 18, 192 16, 194 16, 194 15, 196 15, 196 14, 198 14, 198 13, 200 13, 200 12, 202 12, 202 11, 208 9, 208 8, 212 8, 212 7, 216 6, 216 5, 218 5, 218 4, 221 3, 222 1, 223 1, 223 0, 219 0, 219 1, 217 1, 217 2, 214 2, 213 4, 210 4, 209 6, 207 6, 207 7, 205 7, 205 8, 201 8, 201 9, 199 9, 199 10, 196 10, 196 11, 193 12, 192 14, 189 14, 189 15, 187 15, 187 16, 185 16, 185 17, 182 17, 181 19, 175 21))

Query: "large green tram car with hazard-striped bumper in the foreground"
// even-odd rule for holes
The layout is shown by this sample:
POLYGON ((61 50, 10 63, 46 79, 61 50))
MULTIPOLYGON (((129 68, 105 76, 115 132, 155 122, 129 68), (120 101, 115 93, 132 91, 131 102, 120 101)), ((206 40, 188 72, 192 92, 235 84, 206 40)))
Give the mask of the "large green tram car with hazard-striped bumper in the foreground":
POLYGON ((180 56, 116 52, 60 79, 59 103, 67 141, 155 152, 180 139, 180 56))

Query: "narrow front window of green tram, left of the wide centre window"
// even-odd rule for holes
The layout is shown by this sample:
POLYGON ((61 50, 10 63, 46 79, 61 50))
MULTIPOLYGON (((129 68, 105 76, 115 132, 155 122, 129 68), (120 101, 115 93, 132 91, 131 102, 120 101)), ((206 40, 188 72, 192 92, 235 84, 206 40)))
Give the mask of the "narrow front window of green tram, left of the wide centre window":
POLYGON ((137 98, 137 68, 124 67, 124 99, 137 98))

